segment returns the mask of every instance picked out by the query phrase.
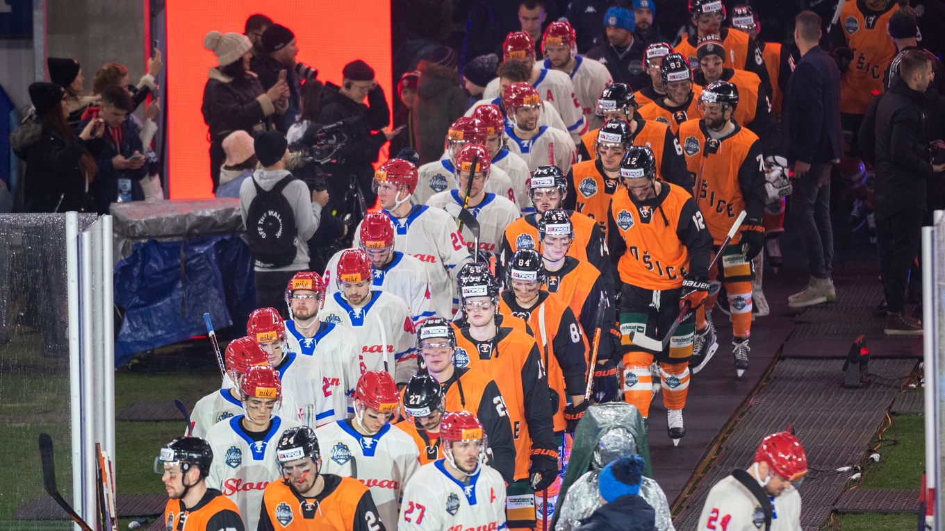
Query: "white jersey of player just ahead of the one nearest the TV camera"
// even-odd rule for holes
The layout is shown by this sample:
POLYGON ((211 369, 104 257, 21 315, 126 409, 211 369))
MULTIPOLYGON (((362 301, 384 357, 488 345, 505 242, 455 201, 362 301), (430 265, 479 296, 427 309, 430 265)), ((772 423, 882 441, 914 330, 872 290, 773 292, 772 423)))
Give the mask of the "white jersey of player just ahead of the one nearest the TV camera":
MULTIPOLYGON (((328 261, 325 274, 321 277, 329 295, 339 291, 338 283, 332 281, 332 273, 337 269, 342 252, 344 251, 339 250, 328 261)), ((427 277, 426 267, 420 260, 399 250, 395 250, 393 254, 394 258, 385 269, 374 268, 374 280, 371 285, 404 300, 410 307, 414 324, 419 324, 428 317, 433 317, 433 309, 430 307, 430 279, 427 277)))

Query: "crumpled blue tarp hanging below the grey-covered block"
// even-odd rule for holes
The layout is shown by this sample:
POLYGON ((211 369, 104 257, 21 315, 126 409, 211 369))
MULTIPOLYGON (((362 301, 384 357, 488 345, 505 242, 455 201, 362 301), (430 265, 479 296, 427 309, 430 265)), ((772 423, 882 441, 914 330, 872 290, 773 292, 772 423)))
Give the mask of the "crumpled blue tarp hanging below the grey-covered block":
POLYGON ((249 248, 237 236, 135 244, 114 268, 114 302, 125 313, 115 368, 136 352, 206 334, 204 313, 216 330, 245 328, 255 301, 249 248))

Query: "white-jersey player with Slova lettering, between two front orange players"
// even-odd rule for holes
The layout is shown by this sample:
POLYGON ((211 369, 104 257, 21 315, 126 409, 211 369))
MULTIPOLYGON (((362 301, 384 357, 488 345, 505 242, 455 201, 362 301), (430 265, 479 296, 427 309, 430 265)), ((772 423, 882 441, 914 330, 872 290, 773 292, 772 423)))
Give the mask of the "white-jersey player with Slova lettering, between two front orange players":
POLYGON ((280 477, 276 446, 283 432, 299 423, 273 415, 283 386, 271 367, 250 367, 240 385, 245 415, 217 422, 207 432, 215 459, 207 487, 223 492, 239 507, 247 529, 255 529, 263 491, 280 477))

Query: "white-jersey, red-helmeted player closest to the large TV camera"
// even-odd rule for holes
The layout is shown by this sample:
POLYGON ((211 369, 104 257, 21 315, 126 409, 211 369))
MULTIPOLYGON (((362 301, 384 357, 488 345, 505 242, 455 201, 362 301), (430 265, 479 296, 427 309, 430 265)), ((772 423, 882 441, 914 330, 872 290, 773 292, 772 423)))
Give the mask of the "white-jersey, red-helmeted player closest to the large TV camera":
MULTIPOLYGON (((439 209, 411 202, 417 188, 417 168, 412 163, 391 159, 381 164, 374 172, 374 186, 382 212, 394 223, 394 245, 426 267, 434 313, 453 317, 455 277, 471 260, 455 219, 439 209)), ((358 244, 357 233, 354 239, 358 244)))

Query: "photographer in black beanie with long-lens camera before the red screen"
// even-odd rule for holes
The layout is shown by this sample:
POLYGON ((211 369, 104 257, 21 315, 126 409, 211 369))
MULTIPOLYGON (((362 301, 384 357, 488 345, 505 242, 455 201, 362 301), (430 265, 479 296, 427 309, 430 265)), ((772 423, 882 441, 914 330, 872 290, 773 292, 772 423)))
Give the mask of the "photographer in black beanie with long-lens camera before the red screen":
POLYGON ((296 55, 299 54, 299 45, 295 34, 289 28, 273 24, 263 32, 263 52, 252 56, 249 60, 249 69, 259 77, 263 90, 284 81, 289 88, 288 108, 284 113, 278 113, 274 120, 276 130, 283 134, 289 130, 299 118, 301 112, 299 76, 296 75, 296 55))

